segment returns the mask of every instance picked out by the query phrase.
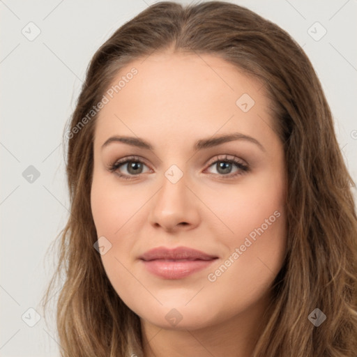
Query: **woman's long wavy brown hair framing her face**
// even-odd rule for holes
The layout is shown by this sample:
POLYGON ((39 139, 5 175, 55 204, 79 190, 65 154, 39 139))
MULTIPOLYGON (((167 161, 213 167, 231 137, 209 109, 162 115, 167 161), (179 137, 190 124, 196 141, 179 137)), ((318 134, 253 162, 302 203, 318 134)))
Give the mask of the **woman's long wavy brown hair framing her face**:
POLYGON ((356 357, 354 182, 321 84, 289 34, 223 1, 185 7, 156 3, 123 24, 91 60, 66 135, 70 217, 56 241, 59 262, 43 298, 45 306, 63 273, 56 305, 61 356, 143 356, 139 317, 116 294, 93 248, 98 239, 90 205, 96 115, 80 130, 75 127, 123 66, 165 50, 214 54, 261 79, 284 143, 287 252, 253 356, 356 357), (317 308, 326 315, 318 327, 308 319, 317 308))

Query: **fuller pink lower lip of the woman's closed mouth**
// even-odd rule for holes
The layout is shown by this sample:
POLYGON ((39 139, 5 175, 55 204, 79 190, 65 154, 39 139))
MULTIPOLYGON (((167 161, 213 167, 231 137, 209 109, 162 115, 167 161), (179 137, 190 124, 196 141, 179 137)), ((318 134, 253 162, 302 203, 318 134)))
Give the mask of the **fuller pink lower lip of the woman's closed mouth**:
POLYGON ((213 261, 216 259, 210 260, 150 260, 143 261, 146 269, 160 278, 163 279, 182 279, 188 275, 196 273, 197 271, 202 271, 202 269, 210 266, 213 261))

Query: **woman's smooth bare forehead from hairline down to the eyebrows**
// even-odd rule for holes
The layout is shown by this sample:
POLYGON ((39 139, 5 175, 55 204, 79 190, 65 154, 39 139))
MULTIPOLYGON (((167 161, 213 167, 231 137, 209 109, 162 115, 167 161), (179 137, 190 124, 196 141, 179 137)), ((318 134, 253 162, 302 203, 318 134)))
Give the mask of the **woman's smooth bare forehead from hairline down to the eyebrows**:
POLYGON ((96 123, 100 141, 110 134, 147 137, 153 131, 161 137, 210 136, 223 126, 225 132, 251 134, 266 129, 259 117, 269 120, 261 82, 211 54, 161 53, 132 61, 119 70, 111 89, 96 123), (129 75, 132 68, 135 75, 129 75))

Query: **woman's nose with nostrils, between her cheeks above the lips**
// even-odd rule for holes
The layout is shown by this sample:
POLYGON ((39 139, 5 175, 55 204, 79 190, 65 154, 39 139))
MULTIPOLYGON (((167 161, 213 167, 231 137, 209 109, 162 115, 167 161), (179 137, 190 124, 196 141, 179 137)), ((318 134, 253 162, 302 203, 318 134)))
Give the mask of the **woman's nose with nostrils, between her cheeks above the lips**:
POLYGON ((149 220, 153 227, 161 227, 165 231, 186 231, 199 225, 199 199, 187 183, 185 174, 176 183, 164 176, 162 188, 151 200, 149 220))

